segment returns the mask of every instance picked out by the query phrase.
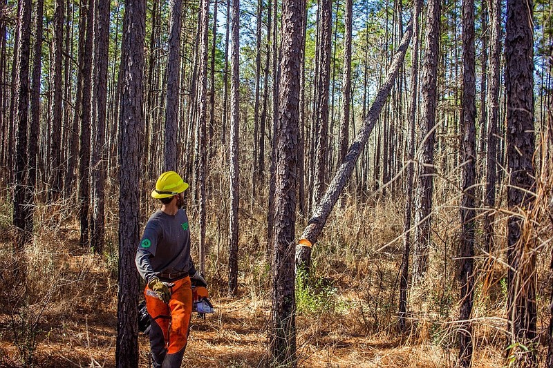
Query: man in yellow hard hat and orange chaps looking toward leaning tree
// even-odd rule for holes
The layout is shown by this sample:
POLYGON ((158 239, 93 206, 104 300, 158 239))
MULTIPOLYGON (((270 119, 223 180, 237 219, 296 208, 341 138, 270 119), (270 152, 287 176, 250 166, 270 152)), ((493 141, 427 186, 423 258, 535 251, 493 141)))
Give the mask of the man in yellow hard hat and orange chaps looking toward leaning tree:
POLYGON ((192 314, 191 279, 207 286, 190 257, 188 217, 181 209, 187 188, 174 171, 160 175, 151 196, 161 209, 149 218, 136 251, 136 267, 147 284, 153 367, 180 367, 192 314))

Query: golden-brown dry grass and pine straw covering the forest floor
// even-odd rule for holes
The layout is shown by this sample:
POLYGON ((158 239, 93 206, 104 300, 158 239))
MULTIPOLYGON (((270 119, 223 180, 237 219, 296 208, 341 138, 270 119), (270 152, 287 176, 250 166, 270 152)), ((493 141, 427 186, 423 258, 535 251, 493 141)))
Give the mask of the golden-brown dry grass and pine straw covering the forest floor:
MULTIPOLYGON (((39 231, 26 249, 28 298, 21 298, 21 285, 10 271, 10 209, 6 202, 0 206, 0 367, 25 362, 36 367, 114 367, 116 232, 110 229, 100 258, 79 247, 73 215, 40 207, 35 216, 39 231)), ((438 211, 435 226, 443 231, 436 234, 425 284, 411 290, 412 328, 405 334, 395 329, 402 246, 393 242, 402 232, 402 200, 346 206, 332 215, 325 238, 313 251, 314 273, 297 288, 299 367, 455 365, 458 285, 451 249, 458 220, 453 206, 438 211)), ((115 223, 108 220, 110 226, 115 223)), ((242 224, 249 229, 247 220, 242 224)), ((211 235, 207 280, 216 312, 205 320, 193 318, 183 367, 265 367, 271 291, 265 250, 255 238, 262 231, 241 235, 238 298, 225 293, 225 246, 219 248, 211 235)), ((538 281, 542 336, 549 319, 548 254, 538 266, 543 271, 538 281)), ((503 367, 505 266, 496 262, 489 273, 477 276, 474 367, 503 367)), ((140 335, 139 343, 140 367, 147 367, 147 337, 140 335)), ((541 359, 545 347, 542 339, 541 359)))

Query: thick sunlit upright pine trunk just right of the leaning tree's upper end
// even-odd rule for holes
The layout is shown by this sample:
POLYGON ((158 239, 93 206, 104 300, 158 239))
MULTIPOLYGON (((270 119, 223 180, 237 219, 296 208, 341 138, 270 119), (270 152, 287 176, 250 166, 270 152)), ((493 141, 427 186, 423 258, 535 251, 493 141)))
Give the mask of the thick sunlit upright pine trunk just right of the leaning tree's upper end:
POLYGON ((440 1, 429 0, 427 6, 427 40, 422 60, 422 110, 421 129, 422 152, 420 158, 415 207, 415 254, 413 257, 413 284, 422 281, 428 268, 431 243, 431 212, 434 175, 434 141, 436 125, 436 86, 438 75, 438 52, 440 39, 440 1))

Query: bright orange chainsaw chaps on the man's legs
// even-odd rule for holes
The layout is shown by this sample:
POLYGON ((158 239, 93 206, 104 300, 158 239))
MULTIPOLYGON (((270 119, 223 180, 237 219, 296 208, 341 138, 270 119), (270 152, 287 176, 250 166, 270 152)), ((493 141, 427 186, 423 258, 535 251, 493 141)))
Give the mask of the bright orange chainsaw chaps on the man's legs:
MULTIPOLYGON (((144 289, 146 308, 152 322, 160 326, 167 354, 176 354, 186 347, 192 315, 190 278, 182 278, 172 283, 174 287, 170 288, 171 300, 169 300, 169 304, 165 304, 148 287, 144 289)), ((153 329, 150 333, 153 333, 153 329)), ((153 341, 156 338, 150 336, 150 340, 153 341)))

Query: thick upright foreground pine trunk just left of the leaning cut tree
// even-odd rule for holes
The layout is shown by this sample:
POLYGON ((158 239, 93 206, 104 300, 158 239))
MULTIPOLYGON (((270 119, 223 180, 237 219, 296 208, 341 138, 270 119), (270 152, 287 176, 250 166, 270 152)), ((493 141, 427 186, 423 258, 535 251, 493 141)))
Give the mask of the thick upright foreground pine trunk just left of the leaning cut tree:
POLYGON ((296 222, 297 143, 303 0, 282 1, 277 173, 272 263, 272 366, 296 367, 294 234, 296 222))

